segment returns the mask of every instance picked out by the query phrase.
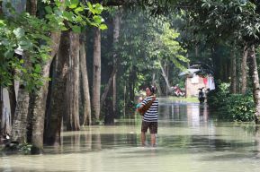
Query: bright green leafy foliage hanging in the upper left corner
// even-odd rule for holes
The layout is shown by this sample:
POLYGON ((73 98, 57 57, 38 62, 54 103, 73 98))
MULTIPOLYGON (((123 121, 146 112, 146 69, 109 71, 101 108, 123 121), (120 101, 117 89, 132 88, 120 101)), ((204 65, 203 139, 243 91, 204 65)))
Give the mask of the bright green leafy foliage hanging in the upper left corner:
MULTIPOLYGON (((2 3, 2 2, 0 2, 2 3)), ((20 80, 28 90, 37 89, 44 82, 41 66, 49 59, 49 34, 61 30, 80 32, 91 25, 106 29, 101 4, 83 4, 78 0, 43 1, 43 18, 30 13, 16 13, 12 4, 4 4, 0 15, 0 86, 8 87, 13 79, 20 80), (23 57, 14 56, 15 49, 23 50, 23 57), (30 64, 30 65, 27 65, 30 64)))

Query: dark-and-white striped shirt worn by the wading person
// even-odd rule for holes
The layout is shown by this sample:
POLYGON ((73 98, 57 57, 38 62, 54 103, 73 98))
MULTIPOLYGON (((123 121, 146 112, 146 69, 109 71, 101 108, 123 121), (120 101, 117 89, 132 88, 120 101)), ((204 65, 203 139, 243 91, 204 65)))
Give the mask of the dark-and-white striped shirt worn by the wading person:
MULTIPOLYGON (((142 101, 142 105, 148 104, 149 101, 153 99, 153 96, 149 96, 142 101)), ((143 116, 143 121, 147 122, 157 122, 158 120, 158 99, 155 99, 151 107, 143 116)))

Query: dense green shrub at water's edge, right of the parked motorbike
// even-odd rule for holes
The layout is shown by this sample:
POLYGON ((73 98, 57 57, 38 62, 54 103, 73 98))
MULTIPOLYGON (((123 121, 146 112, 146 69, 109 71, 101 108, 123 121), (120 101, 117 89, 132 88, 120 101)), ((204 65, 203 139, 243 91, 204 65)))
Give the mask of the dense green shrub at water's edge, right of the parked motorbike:
POLYGON ((229 83, 221 83, 218 90, 208 94, 208 104, 218 113, 217 117, 229 121, 251 122, 255 119, 252 94, 230 94, 229 83))

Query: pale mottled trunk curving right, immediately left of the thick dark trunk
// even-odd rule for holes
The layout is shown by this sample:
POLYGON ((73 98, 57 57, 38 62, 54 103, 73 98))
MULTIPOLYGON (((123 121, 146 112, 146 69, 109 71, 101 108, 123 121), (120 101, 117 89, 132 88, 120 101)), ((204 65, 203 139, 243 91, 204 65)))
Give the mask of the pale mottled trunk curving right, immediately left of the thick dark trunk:
MULTIPOLYGON (((51 52, 49 60, 42 66, 42 77, 49 77, 49 68, 53 60, 53 57, 57 55, 60 33, 51 33, 51 52)), ((44 131, 44 118, 46 110, 46 99, 48 94, 49 82, 46 81, 35 93, 35 104, 33 107, 33 118, 32 118, 32 135, 31 135, 31 153, 39 154, 43 149, 43 131, 44 131)))

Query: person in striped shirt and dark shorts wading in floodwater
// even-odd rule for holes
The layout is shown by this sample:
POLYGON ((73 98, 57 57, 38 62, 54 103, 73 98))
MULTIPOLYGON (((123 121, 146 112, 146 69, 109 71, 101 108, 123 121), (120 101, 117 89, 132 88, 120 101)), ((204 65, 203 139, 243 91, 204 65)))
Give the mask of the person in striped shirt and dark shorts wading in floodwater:
MULTIPOLYGON (((154 86, 150 86, 146 88, 147 98, 144 99, 141 103, 142 108, 148 104, 155 97, 156 88, 154 86)), ((157 127, 158 127, 158 99, 154 99, 152 105, 148 108, 145 112, 144 116, 142 117, 142 125, 141 125, 141 143, 142 146, 145 146, 146 142, 146 133, 150 131, 151 134, 151 146, 156 146, 156 134, 157 134, 157 127)))

